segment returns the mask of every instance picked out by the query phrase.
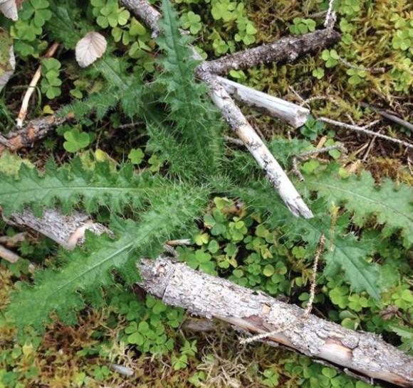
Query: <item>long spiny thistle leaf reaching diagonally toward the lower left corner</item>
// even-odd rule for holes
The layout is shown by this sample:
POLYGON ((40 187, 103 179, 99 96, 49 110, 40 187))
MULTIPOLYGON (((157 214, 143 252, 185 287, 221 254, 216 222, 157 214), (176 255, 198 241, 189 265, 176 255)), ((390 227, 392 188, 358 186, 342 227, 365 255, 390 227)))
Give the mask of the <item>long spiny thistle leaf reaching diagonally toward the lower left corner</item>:
POLYGON ((135 263, 141 255, 155 257, 170 237, 178 237, 199 217, 206 205, 207 191, 182 185, 169 187, 163 198, 140 217, 113 220, 111 230, 117 239, 88 234, 85 249, 63 252, 64 265, 59 271, 36 271, 35 285, 22 285, 15 293, 8 316, 19 328, 31 325, 43 330, 56 312, 67 323, 75 321, 75 313, 85 301, 96 305, 102 286, 113 284, 111 271, 116 269, 128 284, 137 281, 135 263), (64 301, 64 303, 62 303, 64 301))

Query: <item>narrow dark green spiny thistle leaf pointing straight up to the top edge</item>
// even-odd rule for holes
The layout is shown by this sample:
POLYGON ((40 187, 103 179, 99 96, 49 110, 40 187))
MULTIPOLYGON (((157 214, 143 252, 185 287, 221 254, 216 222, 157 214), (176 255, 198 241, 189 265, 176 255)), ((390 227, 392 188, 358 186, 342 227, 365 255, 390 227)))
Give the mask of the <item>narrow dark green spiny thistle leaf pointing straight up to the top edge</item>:
POLYGON ((172 145, 170 141, 162 141, 160 136, 156 136, 152 142, 156 142, 158 149, 165 149, 169 154, 169 163, 173 169, 179 170, 181 176, 199 178, 207 173, 216 173, 219 166, 221 125, 211 114, 214 108, 206 97, 206 85, 195 80, 194 70, 199 61, 192 57, 188 45, 191 38, 179 32, 178 14, 169 0, 162 1, 162 15, 159 21, 162 34, 157 38, 157 43, 164 55, 157 62, 163 72, 157 78, 157 84, 165 90, 163 101, 169 107, 168 119, 175 124, 172 131, 167 129, 167 133, 175 141, 172 145))

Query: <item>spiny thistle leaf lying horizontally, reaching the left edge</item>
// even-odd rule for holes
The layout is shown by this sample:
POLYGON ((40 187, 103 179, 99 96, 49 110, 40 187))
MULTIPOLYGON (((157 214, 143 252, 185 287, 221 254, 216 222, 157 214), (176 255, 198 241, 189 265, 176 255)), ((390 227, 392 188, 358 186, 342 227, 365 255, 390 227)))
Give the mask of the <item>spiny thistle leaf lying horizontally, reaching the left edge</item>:
POLYGON ((56 202, 65 212, 79 202, 88 212, 100 205, 122 212, 127 204, 142 208, 148 195, 154 190, 159 192, 164 184, 150 173, 133 173, 131 165, 113 172, 108 163, 97 163, 95 170, 90 171, 78 160, 71 163, 70 169, 58 169, 48 163, 43 176, 22 164, 18 179, 0 173, 0 180, 0 205, 6 215, 23 210, 25 205, 39 214, 43 207, 52 208, 56 202))

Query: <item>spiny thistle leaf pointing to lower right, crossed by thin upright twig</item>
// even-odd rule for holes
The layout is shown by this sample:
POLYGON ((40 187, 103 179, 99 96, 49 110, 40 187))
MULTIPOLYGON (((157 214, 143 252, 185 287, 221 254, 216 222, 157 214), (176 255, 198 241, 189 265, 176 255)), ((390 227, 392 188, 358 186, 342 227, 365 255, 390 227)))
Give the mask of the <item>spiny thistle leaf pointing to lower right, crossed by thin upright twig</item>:
POLYGON ((268 183, 257 183, 249 188, 235 189, 234 193, 254 208, 265 212, 266 224, 273 228, 281 228, 284 235, 291 241, 304 241, 308 247, 315 249, 321 235, 328 240, 327 246, 331 249, 325 254, 328 265, 325 274, 337 274, 343 271, 347 281, 357 291, 367 291, 371 296, 378 298, 380 295, 379 268, 366 262, 366 257, 372 254, 373 244, 367 241, 357 241, 354 236, 347 234, 349 224, 344 215, 335 221, 331 227, 331 218, 325 212, 327 205, 323 200, 311 204, 314 218, 293 217, 281 200, 273 195, 268 183))

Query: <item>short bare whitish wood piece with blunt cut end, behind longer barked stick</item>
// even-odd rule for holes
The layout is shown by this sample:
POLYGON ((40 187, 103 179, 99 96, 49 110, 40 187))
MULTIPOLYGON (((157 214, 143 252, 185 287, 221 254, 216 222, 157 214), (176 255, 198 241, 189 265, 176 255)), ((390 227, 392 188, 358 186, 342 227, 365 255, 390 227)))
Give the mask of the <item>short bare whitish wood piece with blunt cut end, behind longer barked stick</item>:
POLYGON ((309 109, 300 107, 300 105, 293 104, 285 99, 259 92, 252 87, 241 85, 224 77, 217 77, 217 79, 237 101, 249 107, 263 110, 263 112, 270 116, 288 122, 294 128, 304 125, 310 115, 309 109))

